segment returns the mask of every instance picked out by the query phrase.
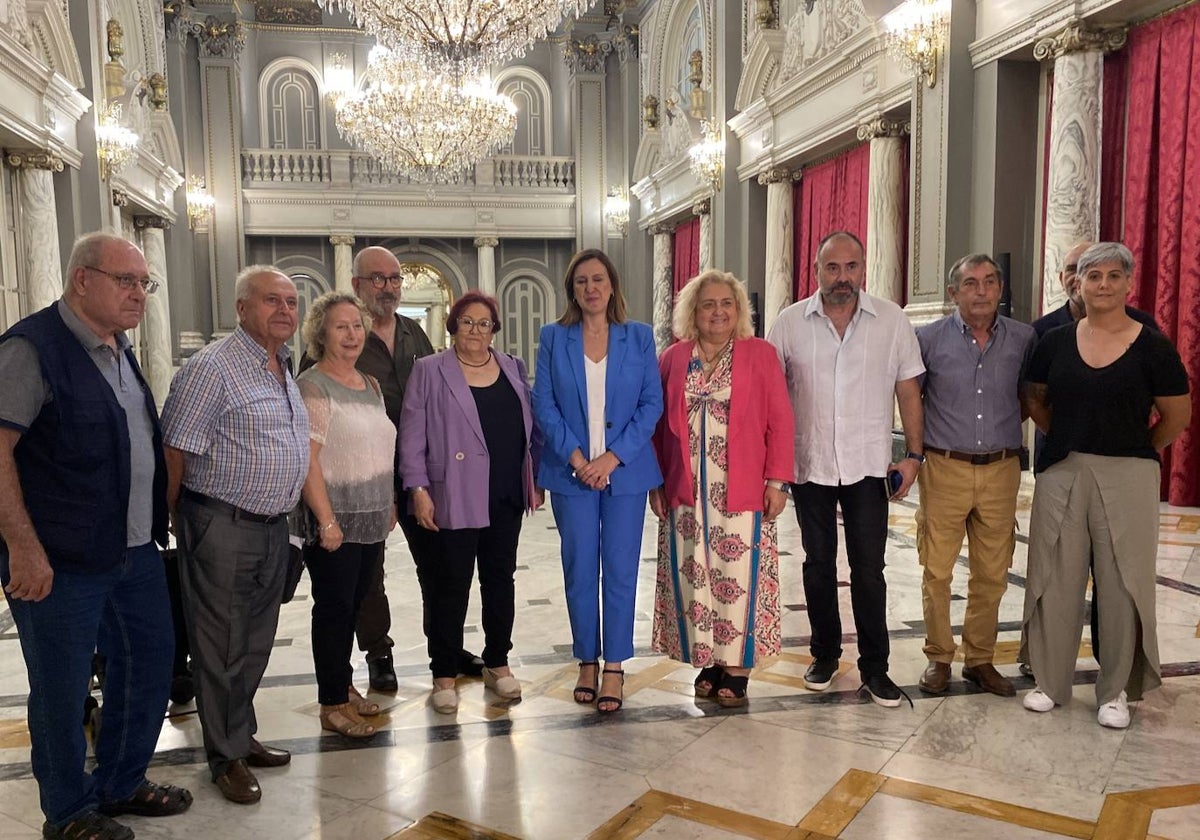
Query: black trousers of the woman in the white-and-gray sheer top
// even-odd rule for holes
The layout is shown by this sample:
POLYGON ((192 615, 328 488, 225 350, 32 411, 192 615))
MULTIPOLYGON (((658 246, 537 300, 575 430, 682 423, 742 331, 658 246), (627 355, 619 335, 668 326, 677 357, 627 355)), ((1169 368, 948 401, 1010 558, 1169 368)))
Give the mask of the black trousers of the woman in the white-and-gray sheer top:
POLYGON ((349 698, 354 620, 367 589, 383 569, 383 545, 343 542, 334 552, 319 545, 304 547, 312 581, 312 664, 317 672, 317 701, 322 706, 340 706, 349 698))

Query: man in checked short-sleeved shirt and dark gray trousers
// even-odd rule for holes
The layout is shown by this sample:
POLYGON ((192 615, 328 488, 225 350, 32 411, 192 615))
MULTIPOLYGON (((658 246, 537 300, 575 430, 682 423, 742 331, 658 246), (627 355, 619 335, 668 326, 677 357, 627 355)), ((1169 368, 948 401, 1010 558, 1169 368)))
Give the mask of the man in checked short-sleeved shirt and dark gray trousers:
POLYGON ((238 329, 175 374, 162 425, 209 770, 226 799, 248 804, 263 796, 250 767, 292 757, 254 738, 254 694, 280 619, 287 515, 308 473, 308 413, 287 344, 296 287, 271 265, 251 265, 234 295, 238 329))

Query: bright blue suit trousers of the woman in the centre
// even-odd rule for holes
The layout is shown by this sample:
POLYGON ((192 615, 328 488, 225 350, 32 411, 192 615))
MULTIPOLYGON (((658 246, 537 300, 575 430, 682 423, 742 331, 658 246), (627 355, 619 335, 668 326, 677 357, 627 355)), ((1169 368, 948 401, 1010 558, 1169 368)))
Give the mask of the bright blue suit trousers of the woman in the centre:
POLYGON ((563 540, 563 578, 572 652, 592 662, 634 655, 634 601, 646 493, 551 493, 563 540))

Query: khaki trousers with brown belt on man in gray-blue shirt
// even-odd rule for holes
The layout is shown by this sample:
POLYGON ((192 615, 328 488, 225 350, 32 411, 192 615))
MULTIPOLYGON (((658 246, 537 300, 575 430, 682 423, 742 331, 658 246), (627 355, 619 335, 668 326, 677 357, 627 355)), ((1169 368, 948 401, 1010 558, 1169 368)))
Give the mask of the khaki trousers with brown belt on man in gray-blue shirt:
POLYGON ((917 476, 917 553, 925 613, 925 655, 931 662, 954 659, 950 581, 967 538, 967 612, 962 620, 962 659, 968 666, 991 662, 996 649, 1000 600, 1016 545, 1016 493, 1021 485, 1015 457, 974 466, 930 454, 917 476))

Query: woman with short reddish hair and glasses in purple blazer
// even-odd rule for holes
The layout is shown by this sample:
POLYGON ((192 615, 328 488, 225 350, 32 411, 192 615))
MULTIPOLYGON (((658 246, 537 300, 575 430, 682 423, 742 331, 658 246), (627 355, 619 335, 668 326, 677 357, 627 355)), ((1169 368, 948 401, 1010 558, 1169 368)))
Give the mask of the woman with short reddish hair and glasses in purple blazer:
POLYGON ((479 560, 484 684, 518 700, 509 668, 512 577, 521 517, 541 506, 534 485, 541 434, 533 422, 524 364, 492 349, 496 299, 468 292, 450 308, 454 347, 418 359, 400 416, 400 473, 413 515, 438 532, 437 575, 426 588, 433 708, 458 709, 458 654, 470 580, 479 560))

